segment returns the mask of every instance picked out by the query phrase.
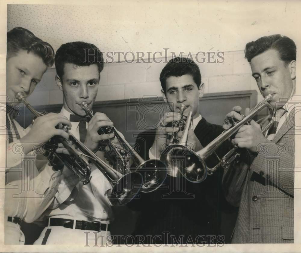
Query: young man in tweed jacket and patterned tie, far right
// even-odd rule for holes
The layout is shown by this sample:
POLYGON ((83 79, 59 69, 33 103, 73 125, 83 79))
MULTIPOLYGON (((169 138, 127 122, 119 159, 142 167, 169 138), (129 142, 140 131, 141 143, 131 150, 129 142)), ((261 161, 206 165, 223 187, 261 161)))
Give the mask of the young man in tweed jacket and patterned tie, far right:
MULTIPOLYGON (((245 57, 261 94, 272 95, 269 104, 274 109, 274 124, 262 133, 252 120, 232 140, 253 159, 224 174, 227 200, 239 205, 232 242, 293 243, 296 45, 280 34, 265 36, 247 43, 245 57)), ((225 129, 230 127, 229 117, 242 119, 237 113, 241 108, 233 110, 225 117, 225 129)), ((265 127, 269 120, 262 120, 261 125, 265 127)))

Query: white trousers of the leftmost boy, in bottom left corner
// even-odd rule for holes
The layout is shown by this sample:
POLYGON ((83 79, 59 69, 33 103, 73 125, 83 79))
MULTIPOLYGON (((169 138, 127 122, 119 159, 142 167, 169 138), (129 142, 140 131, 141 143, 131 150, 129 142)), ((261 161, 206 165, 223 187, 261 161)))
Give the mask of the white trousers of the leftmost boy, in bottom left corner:
POLYGON ((4 244, 7 245, 23 245, 25 236, 19 224, 7 221, 4 222, 4 244))

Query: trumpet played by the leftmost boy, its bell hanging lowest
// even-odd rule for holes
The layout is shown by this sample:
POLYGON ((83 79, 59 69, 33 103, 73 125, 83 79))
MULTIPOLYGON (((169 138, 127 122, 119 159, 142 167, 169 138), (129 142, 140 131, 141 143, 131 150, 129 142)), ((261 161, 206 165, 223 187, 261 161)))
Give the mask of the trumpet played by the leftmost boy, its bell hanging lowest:
MULTIPOLYGON (((17 94, 17 98, 20 102, 23 102, 26 107, 36 116, 40 117, 44 114, 37 112, 24 98, 22 92, 17 94)), ((80 142, 72 133, 70 129, 63 124, 58 124, 57 128, 63 129, 69 134, 69 140, 64 139, 61 136, 54 136, 45 145, 46 152, 44 155, 48 157, 48 160, 52 165, 55 165, 55 161, 59 159, 64 163, 67 168, 73 171, 73 173, 79 177, 79 180, 84 184, 87 184, 91 177, 90 163, 94 164, 110 182, 113 190, 111 194, 108 194, 108 198, 112 205, 121 206, 131 201, 135 195, 139 192, 142 185, 142 176, 138 172, 130 172, 123 175, 112 167, 107 165, 98 156, 96 156, 90 149, 88 149, 82 142, 80 142), (70 141, 72 144, 70 144, 70 141), (62 143, 69 151, 70 155, 61 153, 55 153, 58 143, 62 143), (76 148, 73 147, 75 145, 76 148)))

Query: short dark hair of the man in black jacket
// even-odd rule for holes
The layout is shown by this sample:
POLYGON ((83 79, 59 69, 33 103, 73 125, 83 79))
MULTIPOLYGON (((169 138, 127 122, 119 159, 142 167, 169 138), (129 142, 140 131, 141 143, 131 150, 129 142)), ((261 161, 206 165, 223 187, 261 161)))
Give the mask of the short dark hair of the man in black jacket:
POLYGON ((169 60, 160 74, 160 82, 164 93, 166 92, 166 79, 168 77, 181 77, 189 74, 192 76, 197 88, 200 87, 202 82, 201 72, 197 64, 185 57, 176 57, 169 60))

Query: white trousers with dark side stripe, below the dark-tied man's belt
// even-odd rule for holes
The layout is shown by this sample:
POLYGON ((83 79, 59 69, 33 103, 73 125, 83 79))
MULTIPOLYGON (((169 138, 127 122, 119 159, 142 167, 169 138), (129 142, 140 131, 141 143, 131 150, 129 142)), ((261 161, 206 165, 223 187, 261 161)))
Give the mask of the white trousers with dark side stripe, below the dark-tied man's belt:
POLYGON ((34 244, 82 245, 86 247, 112 245, 109 231, 80 230, 63 226, 46 226, 34 244))

